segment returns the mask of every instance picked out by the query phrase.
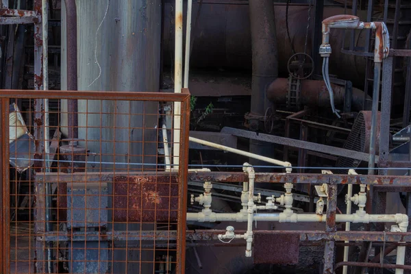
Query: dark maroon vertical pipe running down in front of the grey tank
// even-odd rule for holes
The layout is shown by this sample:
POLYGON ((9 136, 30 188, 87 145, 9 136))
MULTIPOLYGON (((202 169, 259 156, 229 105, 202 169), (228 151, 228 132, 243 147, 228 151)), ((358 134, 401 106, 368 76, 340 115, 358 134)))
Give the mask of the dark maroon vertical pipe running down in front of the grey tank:
MULTIPOLYGON (((67 90, 77 90, 77 10, 75 0, 64 0, 66 5, 67 90)), ((69 138, 78 138, 77 100, 67 101, 69 138)))

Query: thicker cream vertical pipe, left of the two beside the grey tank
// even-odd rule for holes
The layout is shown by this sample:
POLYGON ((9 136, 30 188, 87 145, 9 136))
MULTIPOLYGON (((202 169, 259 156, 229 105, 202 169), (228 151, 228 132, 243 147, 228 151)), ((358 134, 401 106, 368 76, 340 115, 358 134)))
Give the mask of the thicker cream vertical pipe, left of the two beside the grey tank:
MULTIPOLYGON (((175 0, 175 59, 174 59, 174 92, 182 92, 183 73, 183 0, 175 0)), ((182 103, 174 103, 173 131, 173 169, 178 169, 180 147, 180 121, 182 103)))

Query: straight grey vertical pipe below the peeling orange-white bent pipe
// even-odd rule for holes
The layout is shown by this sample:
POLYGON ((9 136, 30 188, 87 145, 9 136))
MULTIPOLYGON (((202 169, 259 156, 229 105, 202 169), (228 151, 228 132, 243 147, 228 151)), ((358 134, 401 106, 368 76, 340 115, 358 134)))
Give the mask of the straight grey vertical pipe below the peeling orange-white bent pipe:
POLYGON ((381 77, 381 63, 374 63, 373 108, 371 120, 371 137, 369 149, 369 175, 374 174, 375 166, 375 136, 377 136, 377 114, 379 103, 379 79, 381 77))

